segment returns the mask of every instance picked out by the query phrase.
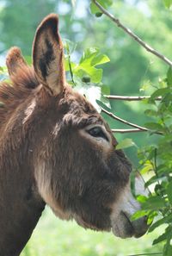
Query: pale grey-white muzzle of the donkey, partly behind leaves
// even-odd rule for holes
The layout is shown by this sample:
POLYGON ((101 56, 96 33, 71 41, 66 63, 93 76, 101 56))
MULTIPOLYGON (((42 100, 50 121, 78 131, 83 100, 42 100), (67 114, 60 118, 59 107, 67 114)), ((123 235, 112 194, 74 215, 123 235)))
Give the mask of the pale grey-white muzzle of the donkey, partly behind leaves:
MULTIPOLYGON (((135 179, 136 195, 148 196, 148 190, 144 189, 143 178, 135 179)), ((146 233, 149 228, 147 217, 143 216, 132 221, 132 215, 141 209, 140 204, 132 196, 130 185, 127 185, 126 190, 120 196, 118 203, 114 203, 111 214, 112 231, 115 236, 120 238, 128 238, 134 236, 138 238, 146 233), (118 209, 118 211, 116 210, 118 209)))

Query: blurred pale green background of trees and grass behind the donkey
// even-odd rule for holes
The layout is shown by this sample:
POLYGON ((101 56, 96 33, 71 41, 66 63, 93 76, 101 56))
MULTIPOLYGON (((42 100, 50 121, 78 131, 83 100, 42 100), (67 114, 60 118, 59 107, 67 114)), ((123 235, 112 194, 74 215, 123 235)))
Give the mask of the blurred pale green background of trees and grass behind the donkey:
MULTIPOLYGON (((0 0, 0 66, 9 47, 22 48, 26 57, 31 56, 35 29, 41 19, 51 12, 60 18, 63 39, 77 43, 71 59, 77 61, 87 47, 99 47, 111 59, 104 67, 103 83, 110 86, 111 94, 126 96, 149 95, 163 78, 167 66, 138 46, 107 17, 97 18, 89 12, 89 0, 0 0), (72 5, 72 3, 75 3, 72 5)), ((128 28, 159 52, 172 59, 172 16, 162 0, 116 0, 111 8, 128 28)), ((115 115, 144 125, 144 103, 111 101, 115 115)), ((108 118, 111 128, 127 128, 124 124, 108 118)), ((157 135, 116 134, 118 140, 126 137, 140 146, 153 143, 157 135)), ((138 165, 137 148, 129 148, 126 154, 133 165, 138 165)), ((157 231, 156 231, 157 232, 157 231)), ((161 230, 159 231, 161 232, 161 230)), ((160 247, 151 247, 156 234, 145 235, 139 240, 120 240, 112 234, 98 234, 79 228, 74 222, 57 220, 49 209, 44 212, 34 235, 22 256, 40 255, 132 255, 160 252, 160 247)))

